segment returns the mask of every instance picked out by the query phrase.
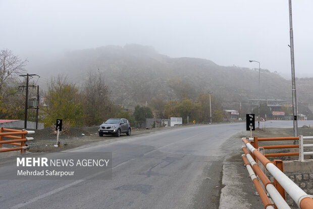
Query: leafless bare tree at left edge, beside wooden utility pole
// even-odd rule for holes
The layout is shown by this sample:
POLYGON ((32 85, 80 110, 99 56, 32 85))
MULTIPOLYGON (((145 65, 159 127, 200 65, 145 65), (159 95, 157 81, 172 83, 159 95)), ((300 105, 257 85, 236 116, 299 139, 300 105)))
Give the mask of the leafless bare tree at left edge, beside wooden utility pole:
POLYGON ((24 67, 27 62, 14 55, 10 49, 0 51, 0 96, 3 95, 9 81, 14 81, 19 74, 25 72, 24 67))

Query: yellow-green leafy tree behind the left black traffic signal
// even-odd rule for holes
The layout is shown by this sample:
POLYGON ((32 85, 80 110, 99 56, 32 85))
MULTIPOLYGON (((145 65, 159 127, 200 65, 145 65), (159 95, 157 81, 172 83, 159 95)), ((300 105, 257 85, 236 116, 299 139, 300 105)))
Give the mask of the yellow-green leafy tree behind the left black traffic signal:
POLYGON ((51 78, 44 102, 43 122, 47 125, 54 124, 56 119, 63 119, 72 127, 83 124, 82 97, 75 84, 66 82, 66 77, 59 75, 51 78))

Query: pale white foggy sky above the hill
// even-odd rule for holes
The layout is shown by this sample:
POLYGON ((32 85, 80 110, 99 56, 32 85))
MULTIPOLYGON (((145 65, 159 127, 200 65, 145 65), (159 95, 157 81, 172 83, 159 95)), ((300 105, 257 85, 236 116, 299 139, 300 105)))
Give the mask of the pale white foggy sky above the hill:
MULTIPOLYGON (((293 0, 296 77, 313 77, 312 11, 313 1, 293 0)), ((258 68, 248 62, 255 60, 291 79, 288 0, 0 0, 0 48, 29 66, 65 51, 127 43, 222 66, 258 68)))

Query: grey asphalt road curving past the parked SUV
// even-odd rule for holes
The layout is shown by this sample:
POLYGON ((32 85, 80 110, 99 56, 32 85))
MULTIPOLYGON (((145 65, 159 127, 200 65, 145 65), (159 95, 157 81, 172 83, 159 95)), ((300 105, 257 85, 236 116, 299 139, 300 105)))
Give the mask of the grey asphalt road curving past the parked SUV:
MULTIPOLYGON (((223 161, 242 146, 228 140, 243 130, 245 123, 179 127, 76 148, 112 152, 112 179, 0 180, 0 208, 218 208, 223 161)), ((0 176, 13 164, 0 159, 0 176)))

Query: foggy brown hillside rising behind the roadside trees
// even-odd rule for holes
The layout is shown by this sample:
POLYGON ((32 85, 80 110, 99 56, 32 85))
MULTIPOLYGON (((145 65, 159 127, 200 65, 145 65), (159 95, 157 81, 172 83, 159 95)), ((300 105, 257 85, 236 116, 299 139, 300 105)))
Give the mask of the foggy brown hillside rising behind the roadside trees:
MULTIPOLYGON (((77 50, 39 68, 41 76, 63 73, 78 85, 90 70, 99 70, 116 102, 126 106, 143 105, 156 97, 195 98, 201 91, 212 91, 226 107, 258 98, 258 69, 224 67, 197 58, 170 58, 138 44, 77 50)), ((264 69, 260 78, 261 99, 286 99, 291 103, 290 80, 264 69)), ((297 80, 298 102, 304 106, 313 101, 311 81, 297 80)))

